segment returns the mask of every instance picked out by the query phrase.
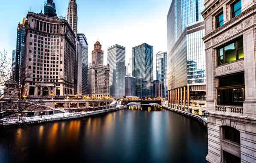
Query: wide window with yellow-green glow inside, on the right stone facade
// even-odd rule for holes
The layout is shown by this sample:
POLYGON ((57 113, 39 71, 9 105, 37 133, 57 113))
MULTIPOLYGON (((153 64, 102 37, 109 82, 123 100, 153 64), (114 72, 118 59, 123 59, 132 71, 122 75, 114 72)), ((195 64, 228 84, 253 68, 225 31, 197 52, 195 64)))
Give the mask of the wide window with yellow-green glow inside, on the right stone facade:
POLYGON ((243 38, 218 49, 218 65, 244 58, 243 38))

